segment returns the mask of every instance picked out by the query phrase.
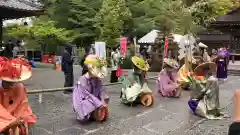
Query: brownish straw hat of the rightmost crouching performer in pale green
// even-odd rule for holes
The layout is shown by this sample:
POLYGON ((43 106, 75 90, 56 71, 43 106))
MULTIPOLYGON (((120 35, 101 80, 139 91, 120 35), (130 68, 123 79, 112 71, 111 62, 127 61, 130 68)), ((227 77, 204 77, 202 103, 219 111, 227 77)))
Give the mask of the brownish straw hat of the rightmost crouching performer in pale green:
POLYGON ((198 76, 203 76, 203 71, 204 70, 210 70, 211 72, 215 72, 217 68, 217 65, 213 62, 206 62, 203 64, 198 65, 195 69, 194 72, 198 76))

